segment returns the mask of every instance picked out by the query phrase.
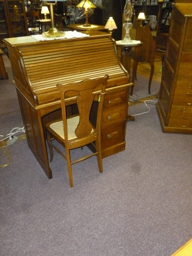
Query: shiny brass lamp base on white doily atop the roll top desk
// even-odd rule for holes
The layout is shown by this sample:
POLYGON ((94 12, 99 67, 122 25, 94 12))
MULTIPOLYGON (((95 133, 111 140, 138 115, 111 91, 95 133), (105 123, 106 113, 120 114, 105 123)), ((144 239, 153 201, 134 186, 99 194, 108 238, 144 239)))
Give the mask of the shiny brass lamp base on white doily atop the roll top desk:
MULTIPOLYGON (((47 0, 47 1, 51 1, 51 0, 47 0)), ((64 0, 65 1, 65 0, 64 0)), ((51 14, 51 28, 49 29, 49 31, 47 32, 43 32, 42 36, 44 37, 62 37, 65 35, 65 32, 59 31, 57 28, 55 28, 55 24, 54 24, 54 11, 53 11, 53 5, 55 5, 57 2, 55 3, 47 3, 45 2, 47 5, 50 5, 50 14, 51 14)))

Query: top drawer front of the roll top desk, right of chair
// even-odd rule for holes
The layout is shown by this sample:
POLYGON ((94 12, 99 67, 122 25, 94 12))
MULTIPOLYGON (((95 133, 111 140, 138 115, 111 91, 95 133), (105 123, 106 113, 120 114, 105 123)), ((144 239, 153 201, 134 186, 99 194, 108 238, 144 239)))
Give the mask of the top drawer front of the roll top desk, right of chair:
POLYGON ((111 106, 117 106, 119 104, 125 104, 127 103, 127 90, 123 90, 116 93, 108 93, 105 95, 104 105, 103 107, 111 107, 111 106))

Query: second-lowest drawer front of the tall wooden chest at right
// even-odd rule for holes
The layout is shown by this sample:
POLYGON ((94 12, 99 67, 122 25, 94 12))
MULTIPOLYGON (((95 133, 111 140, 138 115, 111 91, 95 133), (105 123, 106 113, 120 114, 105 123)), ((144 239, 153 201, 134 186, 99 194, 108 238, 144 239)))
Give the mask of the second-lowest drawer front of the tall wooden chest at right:
POLYGON ((192 81, 177 81, 173 104, 188 107, 192 106, 192 81))

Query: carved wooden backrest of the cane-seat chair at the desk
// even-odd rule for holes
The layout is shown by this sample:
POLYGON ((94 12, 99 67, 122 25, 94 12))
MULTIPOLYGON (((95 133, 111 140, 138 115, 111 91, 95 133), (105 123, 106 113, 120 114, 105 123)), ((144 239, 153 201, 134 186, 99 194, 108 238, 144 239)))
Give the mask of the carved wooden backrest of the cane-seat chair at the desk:
POLYGON ((107 85, 107 79, 108 79, 108 75, 105 75, 104 77, 99 77, 95 79, 85 79, 80 83, 72 83, 68 85, 61 85, 61 84, 57 85, 61 93, 62 118, 63 118, 65 138, 68 138, 65 99, 70 95, 69 91, 73 91, 73 93, 74 91, 77 92, 76 103, 79 111, 79 124, 75 131, 75 135, 77 136, 77 138, 83 138, 90 135, 93 128, 90 121, 91 119, 90 111, 91 111, 94 98, 96 97, 93 94, 93 90, 97 86, 102 85, 101 93, 99 97, 96 97, 99 102, 99 105, 98 105, 97 120, 96 120, 95 128, 97 128, 98 132, 100 132, 99 129, 101 127, 102 109, 103 109, 104 94, 105 94, 105 88, 107 85))

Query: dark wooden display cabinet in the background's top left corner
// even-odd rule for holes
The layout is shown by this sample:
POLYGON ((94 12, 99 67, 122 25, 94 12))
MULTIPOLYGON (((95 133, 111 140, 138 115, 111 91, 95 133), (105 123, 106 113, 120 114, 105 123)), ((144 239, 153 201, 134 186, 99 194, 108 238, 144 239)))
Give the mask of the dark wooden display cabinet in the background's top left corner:
POLYGON ((0 0, 0 45, 4 38, 27 35, 24 0, 0 0))

